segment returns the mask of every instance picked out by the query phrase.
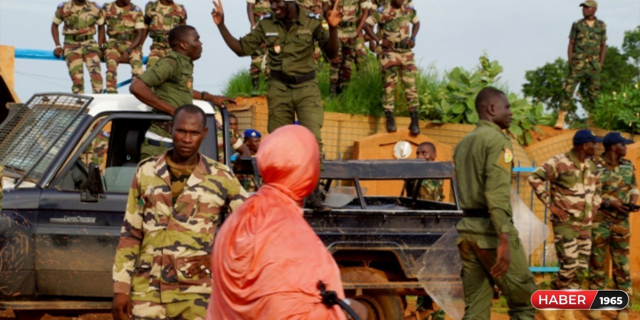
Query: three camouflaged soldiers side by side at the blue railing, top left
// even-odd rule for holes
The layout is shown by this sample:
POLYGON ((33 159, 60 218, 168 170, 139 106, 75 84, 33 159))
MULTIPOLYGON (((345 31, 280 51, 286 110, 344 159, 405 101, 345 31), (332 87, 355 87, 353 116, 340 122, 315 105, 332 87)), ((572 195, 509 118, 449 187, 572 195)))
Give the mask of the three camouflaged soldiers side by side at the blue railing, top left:
POLYGON ((102 6, 87 0, 70 0, 58 5, 53 18, 54 54, 67 62, 72 92, 84 92, 84 62, 91 77, 92 92, 102 93, 100 60, 104 59, 106 92, 117 93, 118 65, 129 63, 132 77, 140 76, 145 38, 149 36, 153 40, 147 60, 147 67, 151 67, 170 51, 169 31, 186 24, 186 20, 184 6, 173 0, 149 1, 144 11, 131 0, 116 0, 102 6), (63 23, 61 45, 58 26, 63 23))

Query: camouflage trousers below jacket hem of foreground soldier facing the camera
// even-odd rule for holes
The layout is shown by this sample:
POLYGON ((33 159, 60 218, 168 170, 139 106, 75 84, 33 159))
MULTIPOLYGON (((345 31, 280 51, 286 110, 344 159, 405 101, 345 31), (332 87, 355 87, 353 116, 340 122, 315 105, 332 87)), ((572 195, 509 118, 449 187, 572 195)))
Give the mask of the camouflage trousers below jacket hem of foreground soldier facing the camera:
POLYGON ((150 301, 131 301, 132 320, 204 320, 207 317, 209 298, 156 303, 150 301))

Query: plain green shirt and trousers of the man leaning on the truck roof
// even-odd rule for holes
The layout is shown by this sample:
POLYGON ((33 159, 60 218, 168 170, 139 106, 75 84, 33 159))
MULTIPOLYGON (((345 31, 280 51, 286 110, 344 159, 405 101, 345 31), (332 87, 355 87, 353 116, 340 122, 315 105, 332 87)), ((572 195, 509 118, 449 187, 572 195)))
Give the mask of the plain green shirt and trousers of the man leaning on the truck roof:
MULTIPOLYGON (((193 61, 184 54, 170 51, 153 67, 148 67, 140 75, 140 80, 173 108, 193 103, 193 61)), ((153 112, 160 111, 153 109, 153 112)), ((172 148, 171 138, 168 123, 154 121, 145 134, 140 159, 158 156, 172 148)))

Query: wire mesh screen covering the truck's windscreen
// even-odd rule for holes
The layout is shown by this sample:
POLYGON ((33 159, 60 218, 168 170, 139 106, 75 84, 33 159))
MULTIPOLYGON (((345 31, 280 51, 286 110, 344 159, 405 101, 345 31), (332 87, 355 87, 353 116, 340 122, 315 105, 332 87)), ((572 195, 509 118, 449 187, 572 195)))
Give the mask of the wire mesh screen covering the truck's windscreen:
POLYGON ((28 175, 42 177, 71 132, 80 124, 91 97, 51 93, 34 95, 15 104, 0 126, 0 163, 28 175))

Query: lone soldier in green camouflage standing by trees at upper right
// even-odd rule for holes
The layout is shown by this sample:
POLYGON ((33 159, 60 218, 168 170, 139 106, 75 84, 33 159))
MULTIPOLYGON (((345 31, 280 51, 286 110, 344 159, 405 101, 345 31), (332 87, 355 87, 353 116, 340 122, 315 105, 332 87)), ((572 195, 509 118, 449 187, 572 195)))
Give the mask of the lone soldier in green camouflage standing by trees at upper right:
POLYGON ((607 25, 595 16, 598 3, 587 0, 581 3, 584 19, 573 22, 569 33, 569 74, 564 83, 564 97, 554 127, 564 128, 564 116, 569 111, 575 86, 586 88, 587 97, 582 97, 582 106, 587 112, 593 110, 600 95, 600 70, 607 52, 607 25))

